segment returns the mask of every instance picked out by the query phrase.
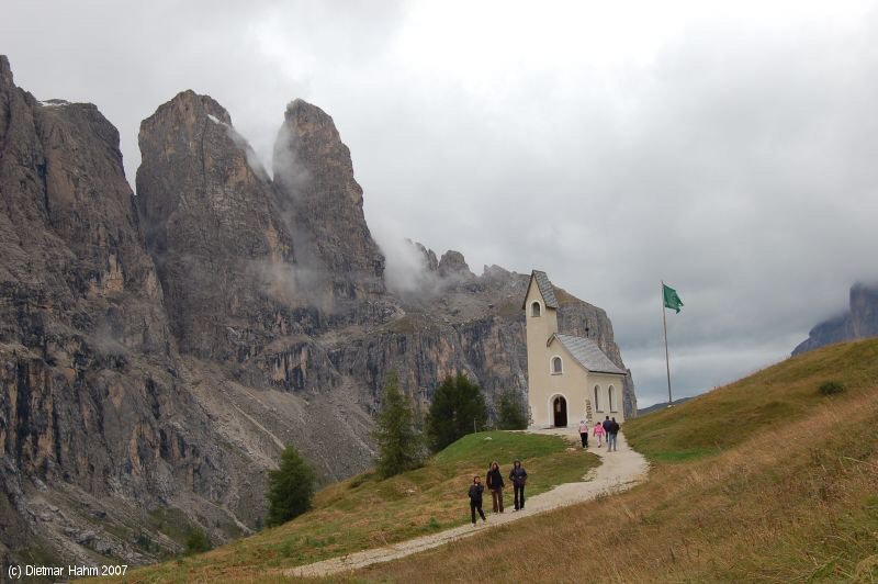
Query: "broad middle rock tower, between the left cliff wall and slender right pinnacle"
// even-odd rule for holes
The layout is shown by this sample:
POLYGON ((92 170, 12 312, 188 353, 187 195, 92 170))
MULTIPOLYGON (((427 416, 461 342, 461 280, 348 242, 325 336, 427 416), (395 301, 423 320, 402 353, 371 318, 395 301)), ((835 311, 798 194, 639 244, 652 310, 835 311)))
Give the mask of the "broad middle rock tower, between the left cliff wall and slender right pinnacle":
MULTIPOLYGON (((267 295, 295 285, 292 238, 273 188, 228 112, 183 91, 140 124, 137 203, 184 352, 247 355, 230 330, 260 323, 267 295), (234 338, 233 338, 234 337, 234 338)), ((237 333, 239 334, 239 333, 237 333)))

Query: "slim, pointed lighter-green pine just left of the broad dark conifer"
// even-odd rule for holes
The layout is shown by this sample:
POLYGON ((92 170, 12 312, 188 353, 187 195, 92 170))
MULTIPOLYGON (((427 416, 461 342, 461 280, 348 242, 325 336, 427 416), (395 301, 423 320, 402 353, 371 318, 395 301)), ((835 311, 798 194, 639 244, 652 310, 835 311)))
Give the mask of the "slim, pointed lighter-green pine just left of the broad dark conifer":
POLYGON ((399 391, 396 373, 390 373, 384 384, 381 414, 378 417, 378 473, 386 479, 417 469, 424 461, 420 436, 415 430, 412 401, 399 391))

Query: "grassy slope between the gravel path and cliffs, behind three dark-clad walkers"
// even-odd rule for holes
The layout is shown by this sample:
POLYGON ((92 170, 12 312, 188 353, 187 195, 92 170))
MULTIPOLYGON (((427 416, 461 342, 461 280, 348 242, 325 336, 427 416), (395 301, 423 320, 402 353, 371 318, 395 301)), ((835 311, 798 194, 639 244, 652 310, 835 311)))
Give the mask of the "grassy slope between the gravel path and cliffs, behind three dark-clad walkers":
MULTIPOLYGON (((263 580, 279 570, 410 539, 469 521, 466 491, 491 461, 506 469, 520 458, 528 494, 579 480, 597 457, 554 436, 480 433, 466 436, 427 465, 385 481, 361 474, 320 491, 314 509, 217 550, 145 568, 128 582, 263 580)), ((511 506, 511 490, 506 497, 511 506)), ((488 507, 491 499, 488 497, 488 507)), ((489 520, 489 517, 488 517, 489 520)))

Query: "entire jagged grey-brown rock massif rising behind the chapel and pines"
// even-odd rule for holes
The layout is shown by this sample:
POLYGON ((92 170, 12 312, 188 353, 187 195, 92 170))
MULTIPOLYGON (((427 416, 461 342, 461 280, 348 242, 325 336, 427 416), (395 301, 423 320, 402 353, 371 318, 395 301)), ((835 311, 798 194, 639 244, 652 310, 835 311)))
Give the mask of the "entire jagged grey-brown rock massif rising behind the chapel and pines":
MULTIPOLYGON (((0 59, 0 557, 142 563, 193 526, 246 534, 284 445, 323 481, 371 464, 392 370, 424 406, 458 371, 489 403, 527 391, 527 276, 415 245, 417 285, 389 291, 318 108, 288 108, 273 180, 192 91, 139 144, 135 198, 98 110, 37 102, 0 59)), ((559 297, 623 367, 606 313, 559 297)))

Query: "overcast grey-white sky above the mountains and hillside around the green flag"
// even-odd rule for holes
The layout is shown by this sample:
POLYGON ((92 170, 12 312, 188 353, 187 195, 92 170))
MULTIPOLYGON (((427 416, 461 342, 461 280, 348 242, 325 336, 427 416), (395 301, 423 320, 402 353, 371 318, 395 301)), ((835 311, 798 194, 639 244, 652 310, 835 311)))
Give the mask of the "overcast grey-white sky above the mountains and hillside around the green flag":
MULTIPOLYGON (((874 3, 3 1, 38 99, 140 120, 209 93, 268 160, 326 110, 382 247, 545 270, 607 310, 641 406, 786 357, 878 280, 874 3), (124 4, 124 5, 123 5, 124 4)), ((268 165, 270 168, 270 165, 268 165)))

